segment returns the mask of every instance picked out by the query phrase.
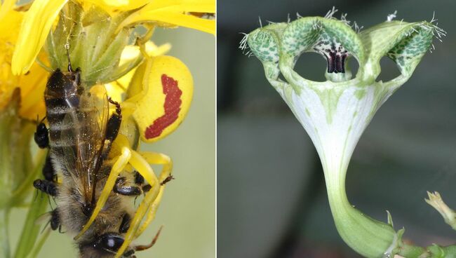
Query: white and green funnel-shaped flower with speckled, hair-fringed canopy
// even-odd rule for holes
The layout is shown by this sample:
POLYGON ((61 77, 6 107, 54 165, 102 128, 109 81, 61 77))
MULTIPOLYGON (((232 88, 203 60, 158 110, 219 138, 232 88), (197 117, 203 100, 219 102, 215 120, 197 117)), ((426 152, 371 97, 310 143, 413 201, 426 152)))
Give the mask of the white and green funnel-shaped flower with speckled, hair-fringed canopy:
MULTIPOLYGON (((392 20, 361 32, 342 15, 298 18, 273 23, 246 34, 241 48, 250 48, 263 64, 264 74, 283 97, 314 143, 326 179, 330 208, 344 241, 365 257, 391 256, 402 247, 401 233, 352 207, 345 194, 345 176, 359 137, 380 106, 413 74, 433 47, 434 36, 445 34, 431 22, 392 20), (304 52, 326 58, 327 81, 303 78, 293 69, 304 52), (391 58, 401 72, 390 81, 377 81, 380 59, 391 58), (347 62, 355 59, 357 74, 347 62), (282 74, 285 81, 279 78, 282 74)), ((322 71, 323 72, 323 71, 322 71)))

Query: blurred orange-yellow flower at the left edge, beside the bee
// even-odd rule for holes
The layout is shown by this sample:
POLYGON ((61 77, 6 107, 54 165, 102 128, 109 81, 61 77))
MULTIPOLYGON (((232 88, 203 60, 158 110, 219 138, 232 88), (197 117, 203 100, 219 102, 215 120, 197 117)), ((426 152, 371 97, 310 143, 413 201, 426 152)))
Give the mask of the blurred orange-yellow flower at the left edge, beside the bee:
MULTIPOLYGON (((6 10, 6 4, 2 6, 1 11, 6 10)), ((48 74, 38 64, 33 64, 27 74, 15 76, 11 73, 11 57, 22 18, 23 13, 6 10, 0 20, 0 32, 8 32, 0 34, 0 111, 11 100, 13 90, 20 88, 20 115, 35 120, 36 116, 43 117, 45 113, 43 96, 39 93, 44 91, 48 74)))

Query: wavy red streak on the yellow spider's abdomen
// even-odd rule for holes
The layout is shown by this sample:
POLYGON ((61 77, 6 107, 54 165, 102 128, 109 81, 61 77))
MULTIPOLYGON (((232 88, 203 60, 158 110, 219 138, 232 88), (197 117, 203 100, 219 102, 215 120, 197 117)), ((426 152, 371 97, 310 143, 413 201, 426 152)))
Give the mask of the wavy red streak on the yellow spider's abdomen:
POLYGON ((174 123, 177 116, 179 116, 180 105, 182 104, 182 100, 180 99, 182 90, 180 90, 177 84, 178 83, 175 79, 167 76, 166 74, 161 75, 163 94, 166 95, 165 103, 163 104, 165 114, 156 118, 154 123, 146 129, 146 139, 160 136, 161 133, 163 133, 163 130, 165 130, 165 128, 167 128, 170 124, 174 123))

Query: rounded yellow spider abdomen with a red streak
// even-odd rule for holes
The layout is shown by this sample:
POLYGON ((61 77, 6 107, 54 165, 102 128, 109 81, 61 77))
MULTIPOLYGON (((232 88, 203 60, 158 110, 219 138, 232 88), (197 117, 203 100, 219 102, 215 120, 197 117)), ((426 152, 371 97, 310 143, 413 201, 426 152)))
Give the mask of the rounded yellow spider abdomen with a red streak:
POLYGON ((138 123, 141 139, 156 142, 172 133, 182 123, 193 96, 193 79, 189 69, 175 57, 161 55, 150 58, 138 68, 135 76, 143 76, 142 89, 130 102, 135 104, 133 118, 138 123))

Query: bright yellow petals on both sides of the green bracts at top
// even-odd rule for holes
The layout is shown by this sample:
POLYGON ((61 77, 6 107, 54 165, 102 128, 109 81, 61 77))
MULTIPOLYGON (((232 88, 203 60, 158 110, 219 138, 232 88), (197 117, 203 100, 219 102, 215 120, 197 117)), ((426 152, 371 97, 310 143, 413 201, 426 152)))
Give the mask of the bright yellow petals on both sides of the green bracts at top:
MULTIPOLYGON (((118 29, 147 23, 159 27, 189 27, 215 34, 215 20, 199 18, 192 13, 215 13, 215 0, 79 0, 84 8, 93 4, 109 14, 130 11, 118 29)), ((67 0, 35 0, 20 28, 13 55, 13 74, 25 74, 43 47, 46 37, 67 0)))

